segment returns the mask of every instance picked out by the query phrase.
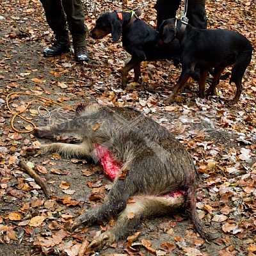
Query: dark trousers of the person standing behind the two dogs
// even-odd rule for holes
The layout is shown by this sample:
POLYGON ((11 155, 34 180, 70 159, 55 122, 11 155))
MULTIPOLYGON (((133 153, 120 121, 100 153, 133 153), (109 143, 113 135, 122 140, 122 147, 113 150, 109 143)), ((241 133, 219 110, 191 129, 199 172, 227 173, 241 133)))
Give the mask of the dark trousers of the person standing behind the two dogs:
MULTIPOLYGON (((187 17, 189 24, 195 28, 206 29, 207 18, 205 12, 205 0, 187 0, 187 17)), ((157 0, 155 8, 157 10, 157 29, 163 20, 175 18, 179 9, 180 0, 157 0)))

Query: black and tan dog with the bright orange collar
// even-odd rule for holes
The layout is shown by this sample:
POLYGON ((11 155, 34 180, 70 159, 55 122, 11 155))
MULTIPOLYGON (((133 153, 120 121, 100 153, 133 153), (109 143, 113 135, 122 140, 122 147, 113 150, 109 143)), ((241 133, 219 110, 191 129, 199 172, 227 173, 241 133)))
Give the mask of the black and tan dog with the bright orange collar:
POLYGON ((121 70, 122 88, 127 84, 128 72, 134 69, 134 81, 141 76, 141 61, 173 60, 179 63, 179 41, 174 40, 168 47, 157 47, 158 32, 138 19, 136 12, 106 12, 96 20, 90 36, 100 39, 111 33, 112 39, 118 41, 122 35, 122 45, 132 58, 121 70), (166 49, 167 48, 167 49, 166 49))

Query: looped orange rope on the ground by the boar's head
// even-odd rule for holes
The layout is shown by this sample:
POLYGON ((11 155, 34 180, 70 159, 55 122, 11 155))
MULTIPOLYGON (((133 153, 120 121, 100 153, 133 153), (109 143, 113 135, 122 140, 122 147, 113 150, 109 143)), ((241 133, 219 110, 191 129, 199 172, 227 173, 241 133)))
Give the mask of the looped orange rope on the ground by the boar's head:
POLYGON ((7 106, 7 108, 9 109, 9 111, 10 111, 10 112, 12 113, 12 115, 13 115, 11 125, 12 125, 12 129, 13 129, 14 131, 20 132, 20 133, 26 133, 26 132, 31 132, 31 131, 33 131, 33 130, 35 129, 36 125, 35 125, 33 122, 29 121, 28 119, 26 119, 26 118, 24 118, 23 116, 20 115, 20 114, 24 113, 24 112, 29 108, 29 105, 31 105, 33 102, 39 102, 39 103, 44 104, 44 105, 47 105, 47 104, 57 104, 57 105, 59 105, 59 106, 61 106, 61 107, 63 107, 63 108, 67 108, 67 109, 70 109, 70 110, 72 110, 72 111, 76 111, 75 109, 70 108, 70 107, 68 107, 68 106, 65 106, 64 104, 61 104, 61 103, 56 102, 56 101, 54 101, 54 100, 49 100, 49 99, 47 99, 47 98, 45 98, 45 97, 36 95, 36 94, 34 94, 34 93, 28 93, 28 92, 12 92, 12 93, 9 93, 9 94, 6 96, 6 106, 7 106), (27 106, 26 106, 25 109, 23 109, 23 110, 20 111, 20 112, 15 112, 15 111, 12 111, 12 109, 11 109, 10 106, 9 106, 9 97, 10 97, 11 95, 15 95, 15 94, 16 94, 16 95, 25 94, 25 95, 35 96, 35 97, 38 97, 39 99, 46 100, 46 102, 44 102, 44 101, 42 101, 42 100, 31 100, 31 101, 28 102, 28 104, 27 104, 27 106), (13 123, 14 123, 14 120, 15 120, 15 118, 16 118, 17 116, 18 116, 19 118, 21 118, 22 120, 28 122, 29 124, 33 125, 33 129, 30 129, 30 130, 28 130, 28 131, 19 131, 18 129, 16 129, 16 128, 14 127, 14 124, 13 124, 13 123))

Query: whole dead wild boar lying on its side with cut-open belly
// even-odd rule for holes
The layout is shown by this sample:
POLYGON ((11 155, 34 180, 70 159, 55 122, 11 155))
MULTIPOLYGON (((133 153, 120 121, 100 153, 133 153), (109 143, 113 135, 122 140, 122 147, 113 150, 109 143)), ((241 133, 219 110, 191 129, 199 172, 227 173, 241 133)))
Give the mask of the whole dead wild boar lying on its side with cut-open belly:
POLYGON ((40 145, 28 148, 27 154, 92 157, 113 179, 104 203, 77 217, 73 224, 74 229, 82 223, 90 226, 117 218, 113 228, 90 243, 90 250, 125 238, 141 218, 170 214, 180 207, 188 209, 200 236, 211 239, 196 213, 198 172, 193 159, 167 129, 138 111, 87 102, 77 107, 73 120, 35 129, 39 137, 62 132, 79 134, 83 142, 40 145), (131 204, 127 203, 129 198, 133 199, 131 204), (128 218, 131 212, 134 217, 128 218))

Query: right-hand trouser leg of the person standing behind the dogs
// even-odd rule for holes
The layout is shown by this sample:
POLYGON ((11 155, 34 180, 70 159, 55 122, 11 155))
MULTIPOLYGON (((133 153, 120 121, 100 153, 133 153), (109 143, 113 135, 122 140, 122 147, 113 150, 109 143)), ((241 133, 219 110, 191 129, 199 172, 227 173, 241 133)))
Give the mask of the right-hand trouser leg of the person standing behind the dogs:
POLYGON ((207 17, 205 12, 205 0, 188 1, 188 23, 199 29, 207 28, 207 17))

